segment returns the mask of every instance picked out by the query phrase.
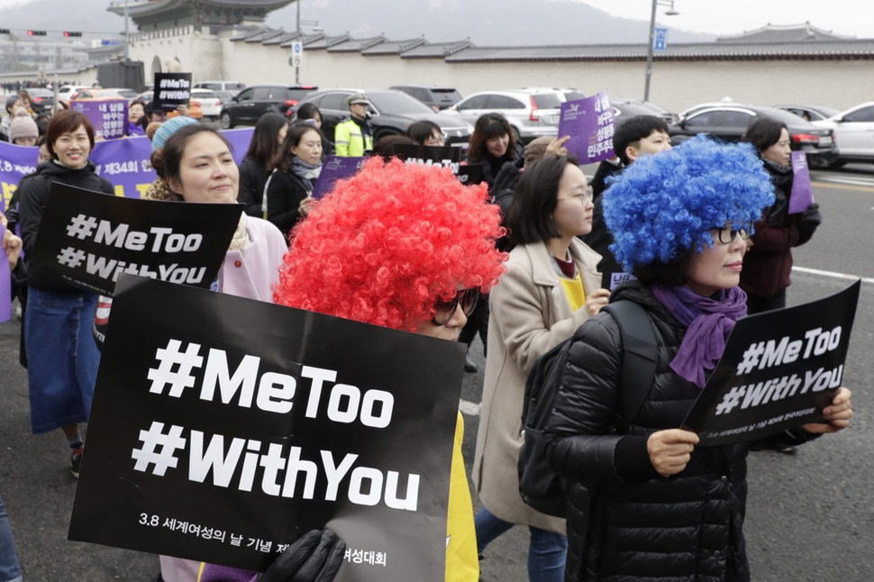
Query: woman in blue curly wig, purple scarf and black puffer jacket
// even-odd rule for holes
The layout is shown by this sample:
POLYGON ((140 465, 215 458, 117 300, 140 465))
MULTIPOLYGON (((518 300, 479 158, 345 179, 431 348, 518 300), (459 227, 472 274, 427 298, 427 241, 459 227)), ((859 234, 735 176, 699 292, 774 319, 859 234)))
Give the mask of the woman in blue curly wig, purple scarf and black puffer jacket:
MULTIPOLYGON (((566 580, 750 579, 748 446, 696 448, 696 434, 676 427, 746 314, 743 254, 771 190, 749 145, 698 137, 638 159, 605 192, 611 249, 637 277, 610 300, 642 305, 659 358, 643 405, 623 423, 615 320, 602 312, 571 345, 546 429, 551 465, 568 479, 566 580)), ((795 445, 845 428, 850 391, 823 414, 827 423, 770 440, 795 445)))

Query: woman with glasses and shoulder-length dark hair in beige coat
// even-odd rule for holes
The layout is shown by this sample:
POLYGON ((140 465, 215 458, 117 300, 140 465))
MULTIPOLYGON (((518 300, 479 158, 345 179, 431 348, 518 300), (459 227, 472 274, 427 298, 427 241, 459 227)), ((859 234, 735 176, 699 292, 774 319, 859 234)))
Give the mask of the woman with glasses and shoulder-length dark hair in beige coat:
POLYGON ((577 238, 592 228, 592 194, 573 159, 549 156, 523 173, 507 217, 516 243, 507 273, 492 290, 486 377, 473 480, 480 553, 514 524, 531 532, 528 576, 559 582, 567 541, 564 520, 541 514, 519 496, 525 378, 535 359, 567 340, 606 305, 596 265, 577 238))

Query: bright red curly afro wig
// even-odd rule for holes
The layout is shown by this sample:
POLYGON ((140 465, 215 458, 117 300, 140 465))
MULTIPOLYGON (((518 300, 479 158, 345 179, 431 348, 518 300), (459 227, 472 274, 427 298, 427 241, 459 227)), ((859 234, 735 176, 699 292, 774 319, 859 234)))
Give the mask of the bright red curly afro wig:
POLYGON ((273 300, 398 330, 504 272, 500 211, 448 169, 369 159, 295 227, 273 300))

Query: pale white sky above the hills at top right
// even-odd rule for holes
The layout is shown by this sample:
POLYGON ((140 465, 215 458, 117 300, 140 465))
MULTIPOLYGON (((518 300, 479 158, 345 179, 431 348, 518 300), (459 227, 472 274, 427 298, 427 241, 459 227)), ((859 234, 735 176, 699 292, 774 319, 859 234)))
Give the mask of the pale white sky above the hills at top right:
MULTIPOLYGON (((650 20, 651 0, 577 0, 614 16, 650 20)), ((662 4, 663 0, 659 0, 662 4)), ((664 4, 669 4, 664 2, 664 4)), ((874 37, 874 3, 870 0, 674 0, 677 16, 661 15, 657 23, 693 32, 741 34, 771 24, 810 22, 834 34, 874 37)))

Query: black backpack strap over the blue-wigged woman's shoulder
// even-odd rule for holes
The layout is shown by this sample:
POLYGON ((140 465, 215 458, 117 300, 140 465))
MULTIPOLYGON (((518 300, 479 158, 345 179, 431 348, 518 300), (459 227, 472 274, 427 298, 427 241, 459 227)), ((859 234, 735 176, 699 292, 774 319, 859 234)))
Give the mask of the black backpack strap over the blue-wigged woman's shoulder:
POLYGON ((641 305, 620 300, 605 305, 602 311, 613 315, 622 337, 619 431, 627 432, 650 392, 656 362, 659 360, 659 344, 656 342, 650 318, 641 305))

